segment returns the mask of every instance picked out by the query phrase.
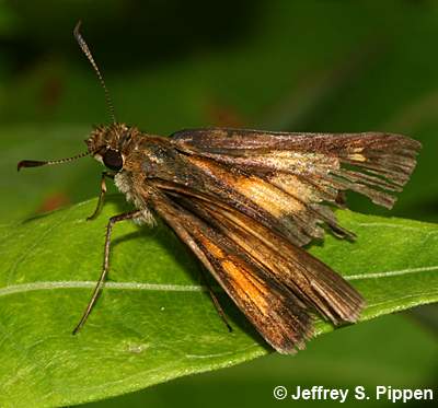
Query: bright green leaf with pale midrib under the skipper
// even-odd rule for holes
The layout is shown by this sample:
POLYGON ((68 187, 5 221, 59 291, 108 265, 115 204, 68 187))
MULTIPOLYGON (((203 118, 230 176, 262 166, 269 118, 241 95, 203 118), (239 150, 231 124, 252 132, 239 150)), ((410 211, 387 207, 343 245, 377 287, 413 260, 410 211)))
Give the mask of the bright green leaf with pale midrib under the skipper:
MULTIPOLYGON (((96 400, 269 352, 220 296, 234 327, 228 333, 199 285, 197 260, 173 233, 128 222, 114 231, 111 280, 72 336, 100 275, 106 220, 126 210, 113 197, 87 222, 95 203, 0 226, 0 406, 96 400)), ((338 217, 357 242, 327 236, 311 252, 364 294, 362 320, 438 300, 438 226, 338 217)), ((319 334, 332 329, 318 323, 319 334)))

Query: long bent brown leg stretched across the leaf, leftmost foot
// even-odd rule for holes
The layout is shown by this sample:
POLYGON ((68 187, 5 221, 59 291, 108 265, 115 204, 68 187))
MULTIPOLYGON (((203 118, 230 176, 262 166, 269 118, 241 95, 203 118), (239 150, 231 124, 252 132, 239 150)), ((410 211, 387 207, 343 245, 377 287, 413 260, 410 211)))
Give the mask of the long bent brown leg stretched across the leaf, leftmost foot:
POLYGON ((132 220, 140 215, 141 215, 141 211, 136 210, 136 211, 131 211, 131 212, 126 212, 124 214, 115 215, 110 219, 108 224, 106 225, 105 250, 104 250, 102 273, 101 273, 101 277, 99 278, 96 285, 94 287, 93 294, 92 294, 90 302, 85 308, 85 312, 83 313, 78 325, 74 327, 73 335, 76 335, 81 329, 81 327, 84 325, 84 323, 87 322, 87 318, 89 317, 89 315, 101 293, 102 287, 105 282, 106 275, 108 273, 111 233, 113 231, 114 224, 116 222, 120 222, 120 221, 132 220))

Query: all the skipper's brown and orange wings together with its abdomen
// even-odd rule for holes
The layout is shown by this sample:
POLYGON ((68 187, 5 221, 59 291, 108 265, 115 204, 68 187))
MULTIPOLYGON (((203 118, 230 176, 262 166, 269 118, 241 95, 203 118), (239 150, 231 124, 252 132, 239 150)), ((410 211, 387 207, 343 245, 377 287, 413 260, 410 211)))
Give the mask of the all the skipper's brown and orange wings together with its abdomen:
POLYGON ((337 224, 350 189, 391 207, 420 144, 387 133, 177 132, 145 163, 152 206, 278 351, 302 348, 310 312, 356 322, 364 300, 300 246, 337 224), (164 153, 165 152, 165 153, 164 153))

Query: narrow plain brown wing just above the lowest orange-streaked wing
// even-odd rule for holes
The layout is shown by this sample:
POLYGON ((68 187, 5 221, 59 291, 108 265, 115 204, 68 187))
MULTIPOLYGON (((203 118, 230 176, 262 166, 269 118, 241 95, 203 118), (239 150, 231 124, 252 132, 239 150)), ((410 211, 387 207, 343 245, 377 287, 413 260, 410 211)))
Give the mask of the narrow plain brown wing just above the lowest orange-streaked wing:
POLYGON ((309 310, 318 311, 335 324, 357 320, 364 299, 325 264, 232 208, 221 208, 198 198, 174 197, 181 206, 238 245, 309 310))

